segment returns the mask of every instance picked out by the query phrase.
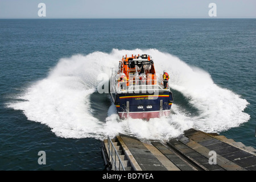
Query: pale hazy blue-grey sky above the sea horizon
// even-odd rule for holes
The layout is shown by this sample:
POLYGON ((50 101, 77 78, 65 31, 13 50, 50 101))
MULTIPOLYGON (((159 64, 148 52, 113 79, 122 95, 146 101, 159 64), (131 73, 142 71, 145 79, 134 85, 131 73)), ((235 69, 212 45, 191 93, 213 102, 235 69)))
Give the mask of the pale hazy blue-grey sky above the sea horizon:
POLYGON ((0 18, 256 18, 256 0, 0 0, 0 18))

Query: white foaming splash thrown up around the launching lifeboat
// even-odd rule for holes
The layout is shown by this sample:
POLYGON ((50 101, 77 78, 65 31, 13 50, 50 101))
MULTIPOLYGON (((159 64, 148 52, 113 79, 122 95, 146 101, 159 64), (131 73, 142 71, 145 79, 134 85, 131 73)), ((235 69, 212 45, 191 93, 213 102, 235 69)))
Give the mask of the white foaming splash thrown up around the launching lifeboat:
MULTIPOLYGON (((192 127, 220 132, 250 119, 250 115, 243 113, 249 104, 246 100, 214 84, 209 73, 156 49, 113 49, 111 53, 93 52, 60 59, 47 78, 32 84, 18 99, 23 101, 8 106, 23 110, 28 119, 49 126, 53 133, 64 138, 102 139, 106 135, 125 133, 141 139, 166 140, 192 127), (156 72, 166 69, 170 73, 171 88, 182 93, 189 104, 199 110, 198 115, 190 115, 174 102, 169 118, 154 118, 148 122, 120 120, 113 104, 107 118, 100 121, 94 117, 90 95, 97 92, 100 82, 97 74, 109 75, 110 68, 118 67, 123 55, 143 53, 152 56, 156 72)), ((98 105, 100 107, 100 103, 98 105)))

